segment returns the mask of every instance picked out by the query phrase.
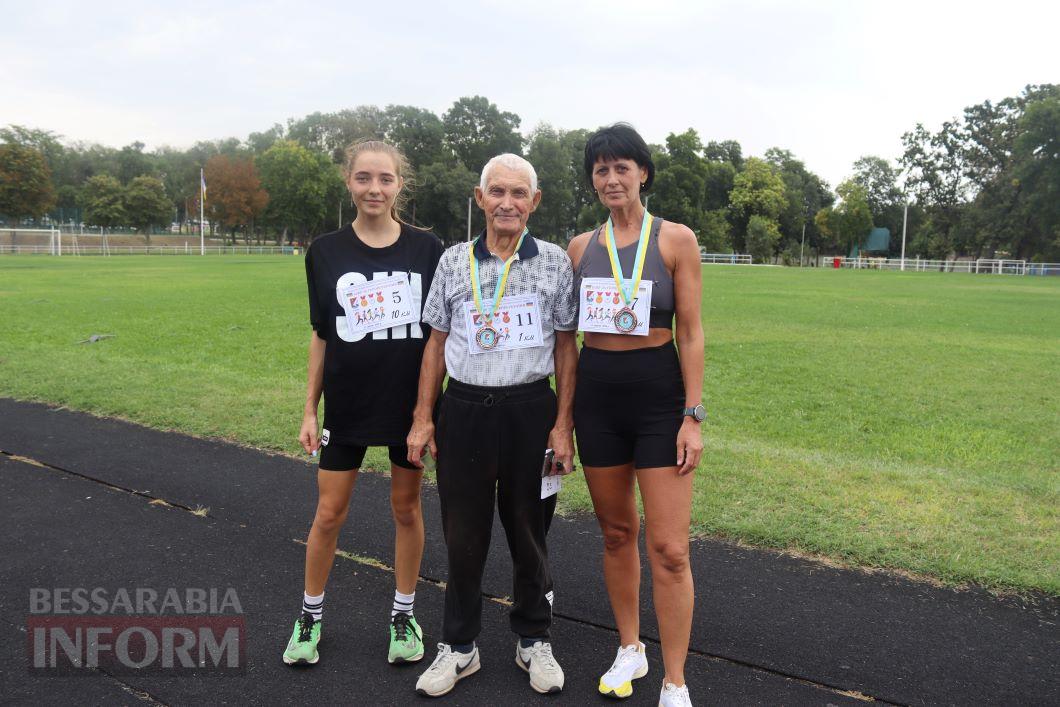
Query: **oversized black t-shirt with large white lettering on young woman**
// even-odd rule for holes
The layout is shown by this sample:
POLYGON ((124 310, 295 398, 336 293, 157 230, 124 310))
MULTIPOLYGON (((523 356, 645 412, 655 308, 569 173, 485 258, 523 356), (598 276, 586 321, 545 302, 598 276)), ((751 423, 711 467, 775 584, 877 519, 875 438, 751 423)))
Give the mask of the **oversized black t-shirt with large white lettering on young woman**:
POLYGON ((363 446, 404 444, 430 333, 428 326, 413 323, 351 336, 338 289, 408 273, 420 315, 443 250, 437 235, 404 224, 398 241, 385 248, 366 245, 348 225, 318 236, 306 250, 310 322, 328 343, 323 427, 330 441, 363 446))

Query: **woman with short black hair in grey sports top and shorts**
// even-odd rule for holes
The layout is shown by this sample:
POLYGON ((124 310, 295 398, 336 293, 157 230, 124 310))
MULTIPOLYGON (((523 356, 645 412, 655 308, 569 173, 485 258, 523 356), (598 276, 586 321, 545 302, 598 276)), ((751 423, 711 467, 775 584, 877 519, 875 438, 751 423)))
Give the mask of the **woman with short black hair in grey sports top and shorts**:
POLYGON ((648 672, 639 639, 637 483, 662 643, 659 704, 690 705, 684 674, 694 598, 688 531, 705 414, 700 248, 687 227, 641 205, 655 166, 632 127, 619 123, 593 135, 584 166, 608 210, 604 224, 567 249, 584 334, 575 431, 604 535, 604 582, 620 638, 599 690, 628 697, 633 681, 648 672))

